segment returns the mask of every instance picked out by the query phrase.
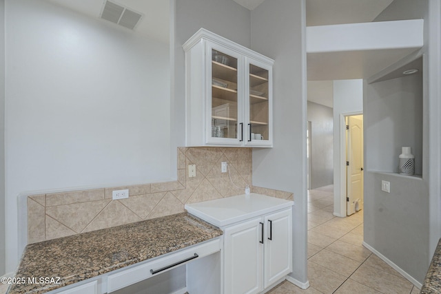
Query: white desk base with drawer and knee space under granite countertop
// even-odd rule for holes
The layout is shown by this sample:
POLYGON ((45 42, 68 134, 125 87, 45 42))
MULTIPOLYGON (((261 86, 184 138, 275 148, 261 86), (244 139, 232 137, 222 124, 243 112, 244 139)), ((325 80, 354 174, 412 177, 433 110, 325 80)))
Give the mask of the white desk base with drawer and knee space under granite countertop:
MULTIPOLYGON (((176 269, 178 266, 186 266, 187 288, 189 293, 221 294, 220 252, 222 251, 222 245, 223 238, 217 237, 212 240, 189 246, 185 249, 160 255, 152 260, 145 260, 138 264, 125 266, 122 269, 116 269, 110 273, 105 273, 92 278, 94 280, 85 280, 78 284, 71 284, 62 288, 57 288, 49 293, 103 294, 113 293, 115 291, 119 291, 119 293, 132 293, 133 291, 126 287, 143 282, 150 279, 150 277, 156 277, 172 269, 176 269)), ((168 277, 163 278, 169 279, 168 277)), ((178 279, 176 280, 173 277, 169 280, 161 280, 161 282, 165 288, 167 288, 167 283, 173 284, 174 286, 179 283, 178 279)), ((158 288, 161 288, 161 286, 158 288)), ((145 291, 147 290, 148 289, 145 288, 145 291)), ((153 293, 150 291, 147 292, 153 293)), ((184 292, 185 291, 182 293, 184 292)), ((161 291, 161 293, 163 293, 163 291, 161 291)))

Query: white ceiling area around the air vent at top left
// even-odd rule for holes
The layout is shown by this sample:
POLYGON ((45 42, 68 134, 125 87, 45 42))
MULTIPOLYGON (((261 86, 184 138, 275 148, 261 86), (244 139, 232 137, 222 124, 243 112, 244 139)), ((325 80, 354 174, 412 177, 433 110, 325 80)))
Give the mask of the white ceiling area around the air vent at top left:
MULTIPOLYGON (((81 14, 88 15, 95 19, 100 19, 100 13, 105 0, 47 0, 59 6, 69 8, 81 14)), ((141 12, 143 18, 136 25, 135 32, 143 34, 148 38, 156 39, 169 43, 170 36, 170 1, 166 0, 112 0, 120 4, 141 12)), ((104 21, 104 20, 102 20, 104 21)), ((108 22, 110 23, 110 22, 108 22)), ((114 24, 112 24, 114 25, 114 24)), ((121 27, 123 28, 123 27, 121 27)))

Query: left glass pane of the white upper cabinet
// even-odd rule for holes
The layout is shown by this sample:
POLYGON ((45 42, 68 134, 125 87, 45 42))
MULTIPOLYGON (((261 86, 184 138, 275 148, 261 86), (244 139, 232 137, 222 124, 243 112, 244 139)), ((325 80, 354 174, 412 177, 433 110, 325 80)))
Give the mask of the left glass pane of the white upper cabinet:
POLYGON ((212 50, 212 137, 237 136, 237 59, 212 50))

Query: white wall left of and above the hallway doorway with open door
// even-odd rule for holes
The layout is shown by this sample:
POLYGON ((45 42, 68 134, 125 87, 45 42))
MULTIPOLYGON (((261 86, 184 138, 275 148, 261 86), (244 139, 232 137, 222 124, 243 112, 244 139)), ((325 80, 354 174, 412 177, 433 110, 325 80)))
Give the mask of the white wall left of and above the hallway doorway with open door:
POLYGON ((346 156, 341 152, 345 140, 344 114, 360 114, 363 111, 363 81, 334 81, 334 215, 346 216, 346 156), (340 204, 340 205, 338 205, 340 204))

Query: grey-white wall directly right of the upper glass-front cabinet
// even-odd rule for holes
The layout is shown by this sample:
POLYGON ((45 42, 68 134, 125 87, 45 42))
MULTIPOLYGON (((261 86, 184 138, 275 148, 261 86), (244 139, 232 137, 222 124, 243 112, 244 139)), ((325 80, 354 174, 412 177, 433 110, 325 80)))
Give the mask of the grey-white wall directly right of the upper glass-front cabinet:
POLYGON ((252 11, 252 50, 274 63, 274 147, 253 149, 253 185, 294 193, 294 269, 307 287, 305 0, 267 0, 252 11), (265 36, 265 37, 263 37, 265 36))

